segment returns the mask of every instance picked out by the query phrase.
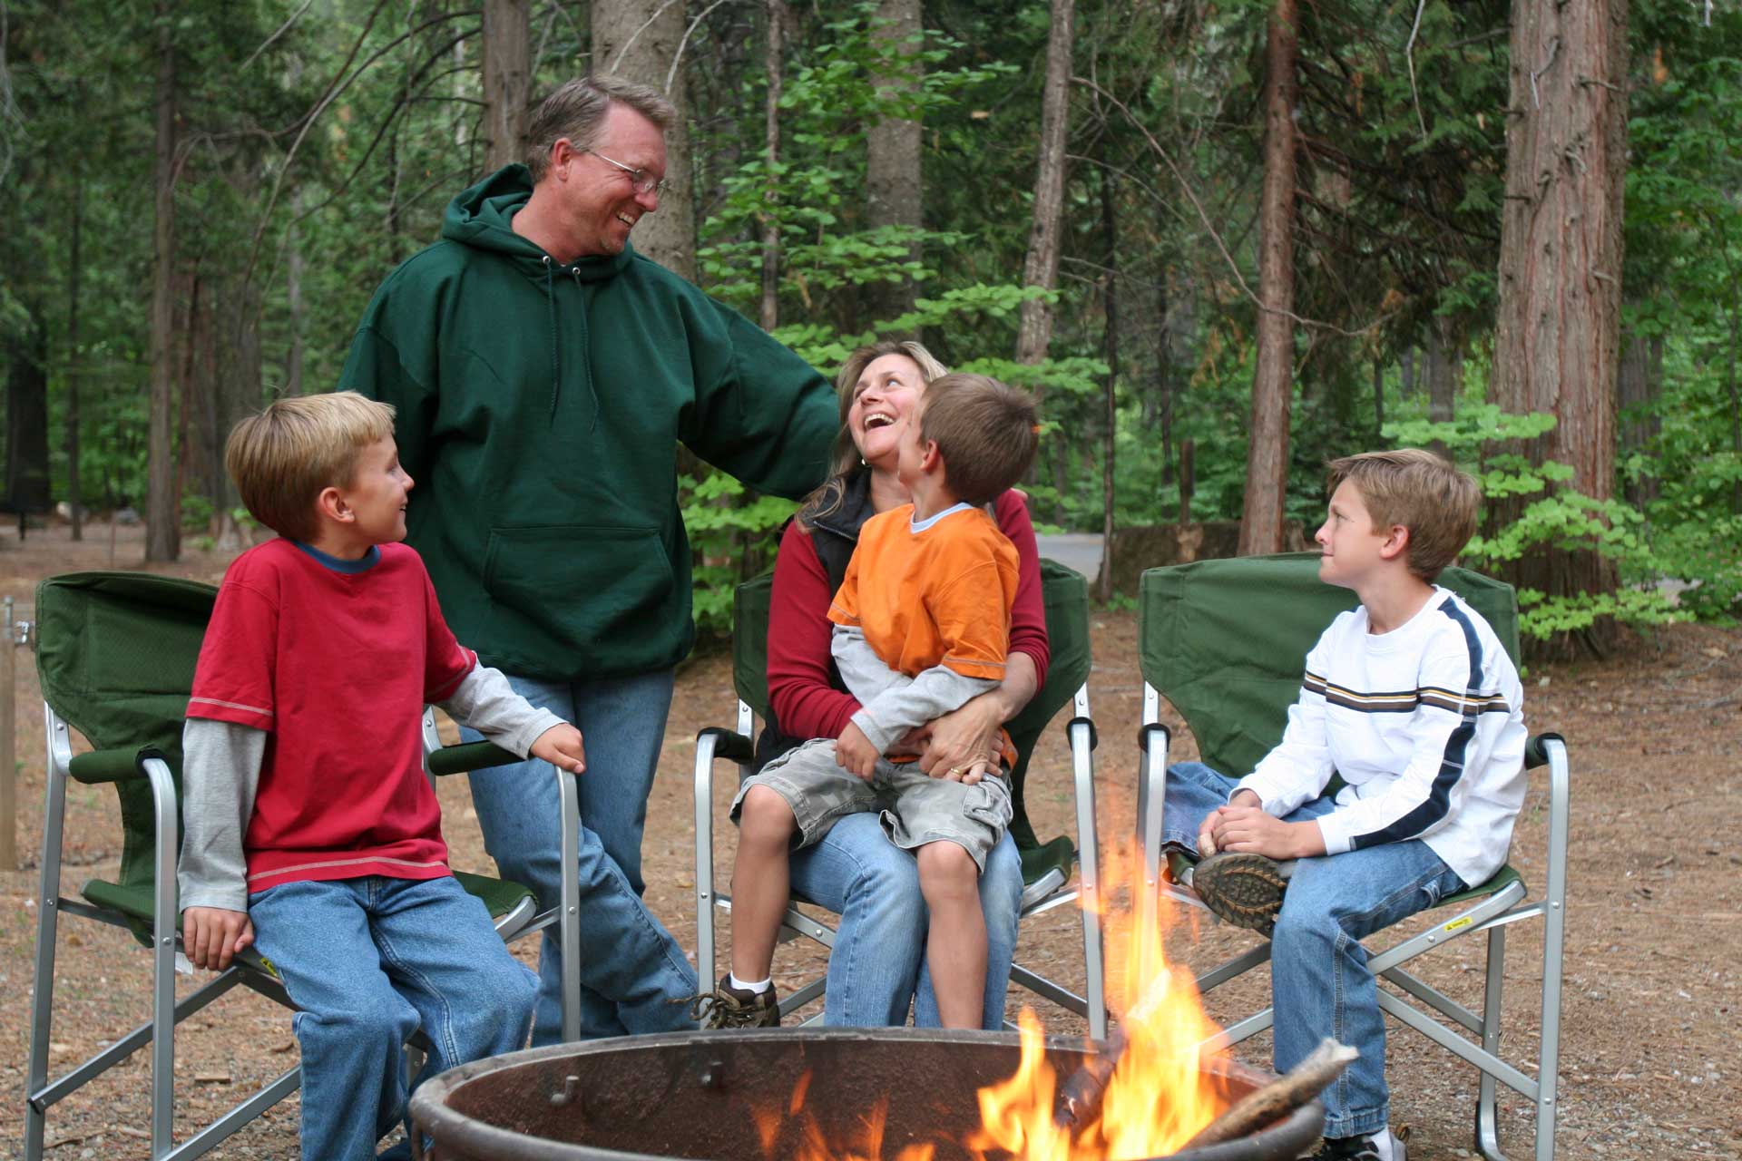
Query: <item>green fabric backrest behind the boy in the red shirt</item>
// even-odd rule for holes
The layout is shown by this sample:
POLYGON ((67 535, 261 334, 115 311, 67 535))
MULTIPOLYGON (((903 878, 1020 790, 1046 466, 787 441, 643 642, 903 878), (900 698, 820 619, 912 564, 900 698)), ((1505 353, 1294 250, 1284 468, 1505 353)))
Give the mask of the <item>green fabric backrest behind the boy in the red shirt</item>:
MULTIPOLYGON (((155 747, 181 768, 181 722, 218 590, 146 573, 68 573, 37 585, 42 700, 98 750, 155 747)), ((115 783, 120 884, 153 881, 152 790, 115 783)))

